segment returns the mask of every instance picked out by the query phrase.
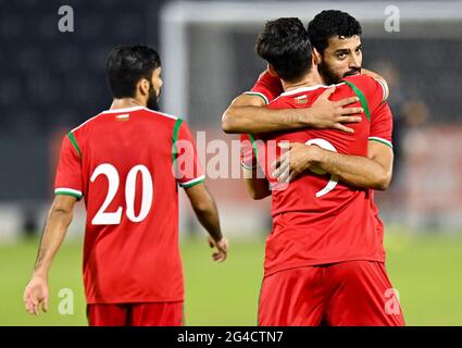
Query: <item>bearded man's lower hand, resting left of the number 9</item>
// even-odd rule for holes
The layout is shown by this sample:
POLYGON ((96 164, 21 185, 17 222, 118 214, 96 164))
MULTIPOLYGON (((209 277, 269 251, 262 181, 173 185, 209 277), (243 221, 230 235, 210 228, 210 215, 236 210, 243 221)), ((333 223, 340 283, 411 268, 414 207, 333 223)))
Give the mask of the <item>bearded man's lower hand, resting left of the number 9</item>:
POLYGON ((278 146, 288 149, 272 164, 272 167, 275 169, 273 176, 280 183, 292 182, 297 175, 315 166, 319 162, 321 148, 315 145, 280 142, 278 146))

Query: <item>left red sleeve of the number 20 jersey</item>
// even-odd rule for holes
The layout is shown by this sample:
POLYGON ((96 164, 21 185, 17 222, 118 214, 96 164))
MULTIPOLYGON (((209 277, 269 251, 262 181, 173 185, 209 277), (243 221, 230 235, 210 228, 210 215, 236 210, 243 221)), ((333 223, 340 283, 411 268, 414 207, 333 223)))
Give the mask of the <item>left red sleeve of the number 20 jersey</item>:
POLYGON ((54 178, 54 194, 74 196, 80 199, 83 194, 82 161, 77 139, 72 133, 62 140, 57 176, 54 178))

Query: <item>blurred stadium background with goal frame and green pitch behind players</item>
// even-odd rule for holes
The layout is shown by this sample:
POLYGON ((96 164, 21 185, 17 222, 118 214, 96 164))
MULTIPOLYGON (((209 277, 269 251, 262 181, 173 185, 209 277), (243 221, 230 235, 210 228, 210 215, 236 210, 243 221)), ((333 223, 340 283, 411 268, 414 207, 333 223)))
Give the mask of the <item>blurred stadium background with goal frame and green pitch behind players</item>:
MULTIPOLYGON (((0 1, 0 325, 86 324, 82 203, 52 268, 50 313, 29 316, 22 295, 52 199, 58 146, 67 129, 109 108, 104 62, 114 46, 158 47, 162 111, 205 132, 208 144, 229 145, 237 137, 221 132, 221 115, 264 70, 253 50, 264 22, 308 23, 323 9, 362 23, 363 65, 391 87, 395 178, 377 200, 407 323, 462 325, 462 2, 392 4, 400 27, 389 33, 383 1, 0 1), (74 10, 73 33, 58 29, 61 5, 74 10), (73 315, 58 313, 62 288, 74 291, 73 315)), ((208 150, 207 160, 216 157, 208 150)), ((229 260, 213 264, 182 197, 186 324, 253 325, 270 201, 251 201, 238 178, 209 177, 208 185, 233 245, 229 260)))

